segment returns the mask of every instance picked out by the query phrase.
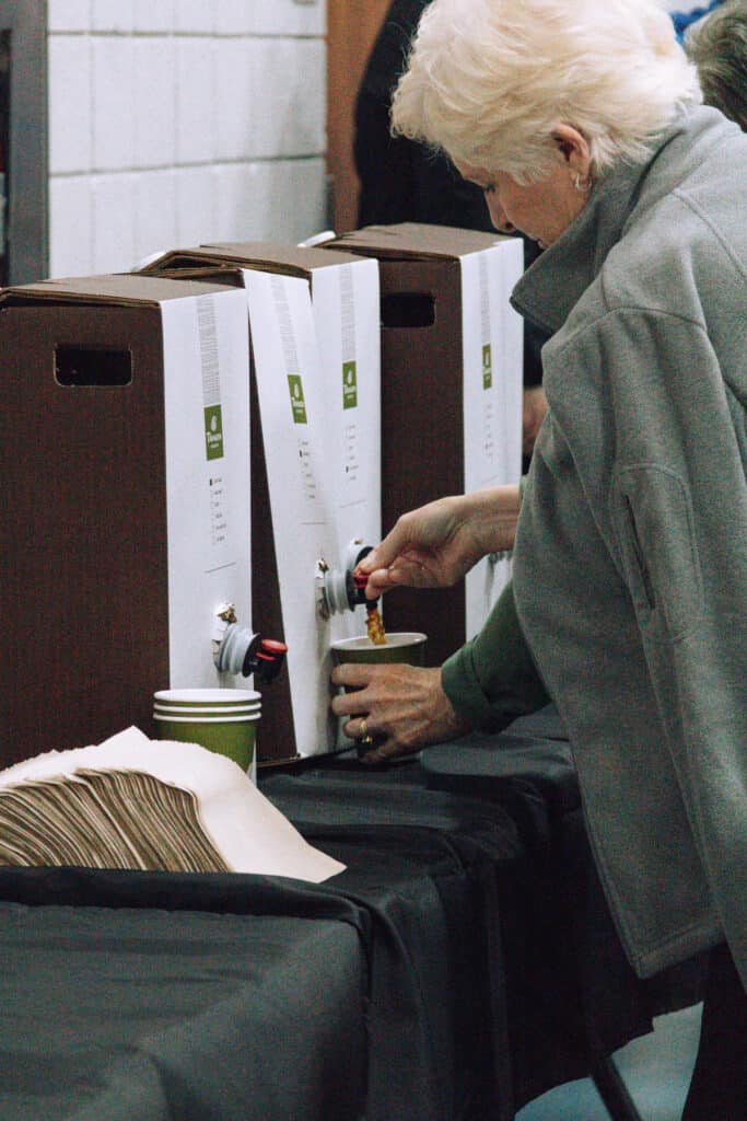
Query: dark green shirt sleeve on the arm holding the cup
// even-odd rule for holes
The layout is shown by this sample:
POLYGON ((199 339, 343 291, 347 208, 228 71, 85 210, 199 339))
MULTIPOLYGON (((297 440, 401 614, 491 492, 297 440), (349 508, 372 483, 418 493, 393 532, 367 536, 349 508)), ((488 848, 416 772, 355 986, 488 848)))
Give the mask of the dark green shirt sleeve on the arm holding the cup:
POLYGON ((479 633, 443 664, 441 685, 457 715, 486 732, 550 703, 524 641, 512 583, 479 633))

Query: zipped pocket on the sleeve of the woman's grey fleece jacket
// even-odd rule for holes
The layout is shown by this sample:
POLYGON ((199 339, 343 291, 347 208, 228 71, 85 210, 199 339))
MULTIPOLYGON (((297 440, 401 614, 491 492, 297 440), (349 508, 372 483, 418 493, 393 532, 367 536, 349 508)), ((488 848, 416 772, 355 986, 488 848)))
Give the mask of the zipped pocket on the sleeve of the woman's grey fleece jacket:
POLYGON ((654 464, 620 469, 613 485, 613 522, 638 624, 659 642, 698 627, 702 580, 690 493, 654 464))

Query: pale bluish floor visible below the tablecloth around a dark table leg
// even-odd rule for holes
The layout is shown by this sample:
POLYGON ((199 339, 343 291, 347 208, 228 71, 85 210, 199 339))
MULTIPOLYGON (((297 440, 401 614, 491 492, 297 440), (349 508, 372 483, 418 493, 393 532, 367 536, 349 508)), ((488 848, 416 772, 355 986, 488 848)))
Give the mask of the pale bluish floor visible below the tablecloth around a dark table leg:
MULTIPOLYGON (((615 1062, 643 1121, 680 1121, 700 1032, 700 1006, 663 1016, 615 1062)), ((530 1102, 516 1121, 609 1121, 594 1083, 570 1082, 530 1102)))

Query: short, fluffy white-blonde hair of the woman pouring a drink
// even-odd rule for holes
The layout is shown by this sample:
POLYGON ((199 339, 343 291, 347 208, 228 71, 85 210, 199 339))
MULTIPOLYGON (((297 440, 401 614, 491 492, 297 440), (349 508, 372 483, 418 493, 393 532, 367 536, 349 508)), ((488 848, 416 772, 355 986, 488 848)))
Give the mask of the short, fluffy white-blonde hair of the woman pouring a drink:
POLYGON ((558 124, 595 174, 642 159, 698 75, 656 0, 433 0, 392 105, 396 133, 520 183, 555 158, 558 124))

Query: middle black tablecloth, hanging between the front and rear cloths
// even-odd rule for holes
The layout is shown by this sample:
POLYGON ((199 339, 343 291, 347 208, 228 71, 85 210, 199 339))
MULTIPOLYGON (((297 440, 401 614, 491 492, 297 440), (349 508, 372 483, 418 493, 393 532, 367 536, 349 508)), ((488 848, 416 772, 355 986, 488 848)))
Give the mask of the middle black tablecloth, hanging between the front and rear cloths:
POLYGON ((507 814, 424 790, 417 762, 355 772, 333 762, 262 789, 346 862, 329 888, 365 907, 380 932, 368 1118, 512 1118, 496 868, 519 881, 524 851, 507 814))

